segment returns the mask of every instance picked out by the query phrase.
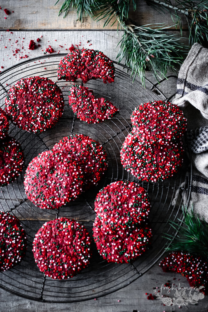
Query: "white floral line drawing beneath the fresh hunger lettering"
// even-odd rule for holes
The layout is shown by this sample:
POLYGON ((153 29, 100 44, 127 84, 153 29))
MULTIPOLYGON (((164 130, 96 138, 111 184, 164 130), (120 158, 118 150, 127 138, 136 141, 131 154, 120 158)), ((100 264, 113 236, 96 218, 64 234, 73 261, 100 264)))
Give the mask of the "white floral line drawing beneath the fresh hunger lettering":
MULTIPOLYGON (((166 289, 167 287, 161 287, 162 289, 166 289)), ((171 299, 170 297, 165 297, 162 295, 162 291, 155 290, 154 295, 157 299, 160 299, 164 305, 178 305, 179 308, 184 305, 192 304, 195 305, 198 300, 204 298, 204 294, 200 292, 200 289, 204 288, 204 286, 197 287, 183 287, 181 288, 179 285, 179 290, 172 286, 171 289, 175 290, 174 297, 171 299), (186 295, 186 290, 190 290, 188 296, 186 295), (193 295, 191 294, 191 290, 194 290, 193 295)), ((170 293, 170 288, 168 289, 168 293, 170 293)))

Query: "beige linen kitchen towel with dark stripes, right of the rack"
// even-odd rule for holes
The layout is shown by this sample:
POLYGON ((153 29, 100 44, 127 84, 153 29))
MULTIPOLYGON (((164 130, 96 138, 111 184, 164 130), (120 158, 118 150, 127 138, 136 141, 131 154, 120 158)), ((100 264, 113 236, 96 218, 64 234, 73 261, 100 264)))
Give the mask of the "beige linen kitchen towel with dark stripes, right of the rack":
MULTIPOLYGON (((177 94, 172 102, 180 106, 187 117, 187 138, 195 167, 189 209, 208 222, 208 49, 195 43, 178 74, 177 94)), ((185 185, 177 191, 173 204, 185 185)), ((185 203, 185 201, 184 201, 185 203)))

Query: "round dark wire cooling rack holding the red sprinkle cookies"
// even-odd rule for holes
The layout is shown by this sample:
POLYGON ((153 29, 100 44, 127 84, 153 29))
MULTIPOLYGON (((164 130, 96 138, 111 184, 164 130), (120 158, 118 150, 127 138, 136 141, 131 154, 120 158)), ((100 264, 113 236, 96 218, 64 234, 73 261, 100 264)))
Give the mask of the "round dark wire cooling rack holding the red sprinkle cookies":
MULTIPOLYGON (((0 73, 0 107, 10 86, 21 78, 44 76, 56 81, 57 66, 63 54, 36 57, 12 66, 0 73)), ((72 114, 68 105, 70 82, 58 81, 65 100, 62 118, 52 128, 39 135, 26 132, 10 124, 9 135, 17 139, 25 154, 25 167, 21 176, 14 183, 0 189, 0 210, 12 213, 17 217, 27 233, 27 253, 20 264, 11 270, 0 273, 0 287, 13 294, 30 300, 44 302, 76 302, 107 295, 119 290, 145 274, 164 254, 167 240, 163 233, 173 238, 177 235, 169 222, 182 217, 181 204, 188 205, 191 185, 192 166, 190 152, 186 147, 186 159, 182 170, 171 179, 160 183, 139 182, 126 172, 120 162, 120 149, 126 135, 131 130, 130 115, 139 104, 149 100, 167 99, 167 97, 146 79, 146 89, 137 79, 128 74, 128 68, 114 62, 115 82, 104 84, 102 81, 90 80, 85 85, 94 90, 98 97, 105 97, 119 108, 119 114, 99 124, 86 124, 72 114), (156 90, 154 93, 152 90, 156 90), (23 181, 28 163, 39 153, 51 149, 66 135, 83 133, 103 144, 108 155, 108 170, 99 185, 80 198, 59 210, 43 210, 33 205, 26 197, 23 181), (148 251, 131 264, 114 264, 104 261, 93 244, 93 257, 90 265, 81 273, 69 280, 52 280, 37 268, 33 253, 32 241, 38 229, 47 220, 58 216, 73 218, 83 224, 92 236, 92 225, 95 217, 94 198, 99 189, 117 180, 135 181, 143 186, 150 197, 152 244, 148 251)), ((163 80, 162 80, 163 81, 163 80)), ((161 81, 161 82, 162 82, 161 81)), ((77 81, 77 84, 82 82, 77 81)), ((172 95, 173 96, 173 95, 172 95)), ((167 246, 167 245, 166 245, 167 246)))

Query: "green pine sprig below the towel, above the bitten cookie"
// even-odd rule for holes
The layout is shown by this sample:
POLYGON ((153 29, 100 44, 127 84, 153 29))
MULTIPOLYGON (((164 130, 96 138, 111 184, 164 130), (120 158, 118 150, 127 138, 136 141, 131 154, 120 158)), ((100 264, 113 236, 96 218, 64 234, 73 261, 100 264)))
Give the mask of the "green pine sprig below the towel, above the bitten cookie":
MULTIPOLYGON (((189 213, 186 207, 183 207, 183 217, 183 220, 178 219, 181 225, 171 222, 171 226, 179 233, 166 250, 191 253, 208 261, 208 223, 195 216, 193 209, 189 213)), ((172 241, 171 235, 166 234, 165 237, 172 241)))

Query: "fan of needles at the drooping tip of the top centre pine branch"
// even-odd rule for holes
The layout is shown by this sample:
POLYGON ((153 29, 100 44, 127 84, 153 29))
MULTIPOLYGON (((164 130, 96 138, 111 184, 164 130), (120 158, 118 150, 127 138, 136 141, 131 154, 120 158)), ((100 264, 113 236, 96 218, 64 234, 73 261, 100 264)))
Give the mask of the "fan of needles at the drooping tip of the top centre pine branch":
POLYGON ((124 65, 132 69, 132 75, 138 74, 142 83, 145 70, 151 71, 157 79, 166 77, 169 68, 175 71, 175 66, 183 61, 183 53, 188 51, 180 43, 180 38, 152 26, 156 25, 124 25, 117 56, 119 62, 124 60, 124 65))

